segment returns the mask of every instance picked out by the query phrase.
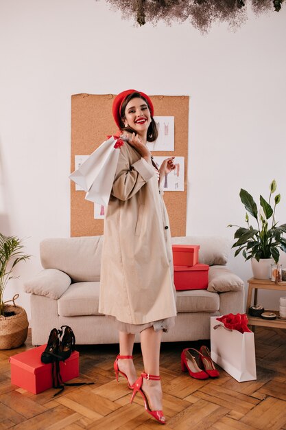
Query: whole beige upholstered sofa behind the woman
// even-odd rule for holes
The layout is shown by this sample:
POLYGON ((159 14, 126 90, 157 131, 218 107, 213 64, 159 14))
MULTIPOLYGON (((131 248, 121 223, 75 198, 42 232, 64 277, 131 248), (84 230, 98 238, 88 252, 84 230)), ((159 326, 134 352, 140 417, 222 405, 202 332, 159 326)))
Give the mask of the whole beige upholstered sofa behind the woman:
MULTIPOLYGON (((243 281, 226 267, 228 240, 186 236, 172 242, 200 245, 199 262, 210 269, 207 290, 177 291, 176 326, 164 333, 163 341, 209 339, 211 316, 244 312, 243 281)), ((25 283, 31 294, 33 345, 46 343, 50 330, 62 325, 73 328, 78 344, 118 342, 112 319, 97 311, 101 253, 102 236, 40 243, 44 269, 25 283)))

